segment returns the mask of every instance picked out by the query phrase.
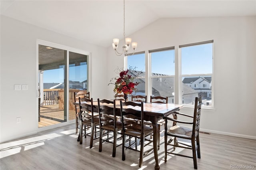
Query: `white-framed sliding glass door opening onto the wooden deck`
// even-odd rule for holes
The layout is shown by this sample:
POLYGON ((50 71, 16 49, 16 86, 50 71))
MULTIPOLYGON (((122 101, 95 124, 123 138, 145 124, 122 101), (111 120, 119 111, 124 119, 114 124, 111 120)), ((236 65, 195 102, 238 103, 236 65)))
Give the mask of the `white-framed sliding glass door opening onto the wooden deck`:
POLYGON ((38 40, 38 127, 75 122, 74 93, 88 91, 88 52, 38 40))

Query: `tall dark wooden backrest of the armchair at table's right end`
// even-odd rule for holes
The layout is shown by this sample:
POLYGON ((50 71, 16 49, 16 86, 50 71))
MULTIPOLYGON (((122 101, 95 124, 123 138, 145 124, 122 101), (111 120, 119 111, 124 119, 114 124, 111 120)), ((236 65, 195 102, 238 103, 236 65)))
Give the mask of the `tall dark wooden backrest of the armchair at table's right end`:
POLYGON ((202 96, 195 98, 195 107, 194 107, 194 118, 193 118, 193 128, 192 128, 192 135, 199 132, 199 123, 200 123, 200 116, 201 116, 201 106, 202 106, 202 96))

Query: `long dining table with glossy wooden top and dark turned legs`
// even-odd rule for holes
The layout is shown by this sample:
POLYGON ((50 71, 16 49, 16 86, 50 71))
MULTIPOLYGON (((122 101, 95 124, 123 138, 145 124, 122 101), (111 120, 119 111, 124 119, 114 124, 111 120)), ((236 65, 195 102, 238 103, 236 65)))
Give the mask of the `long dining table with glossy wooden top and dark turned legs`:
MULTIPOLYGON (((136 102, 136 101, 134 101, 136 102)), ((81 103, 87 103, 88 105, 91 105, 90 102, 81 102, 81 103)), ((74 102, 74 105, 79 106, 79 102, 74 102)), ((154 158, 156 161, 155 164, 155 170, 159 170, 159 164, 158 164, 158 121, 162 119, 162 117, 167 117, 169 115, 172 115, 174 112, 180 110, 183 107, 183 105, 176 105, 171 103, 144 103, 144 121, 150 121, 152 123, 153 127, 153 150, 154 150, 154 158)), ((93 108, 94 112, 98 112, 98 101, 93 101, 93 108)), ((125 109, 125 106, 123 107, 125 109)), ((139 109, 137 107, 134 107, 134 109, 139 109)), ((120 116, 120 101, 116 100, 116 115, 120 116)))

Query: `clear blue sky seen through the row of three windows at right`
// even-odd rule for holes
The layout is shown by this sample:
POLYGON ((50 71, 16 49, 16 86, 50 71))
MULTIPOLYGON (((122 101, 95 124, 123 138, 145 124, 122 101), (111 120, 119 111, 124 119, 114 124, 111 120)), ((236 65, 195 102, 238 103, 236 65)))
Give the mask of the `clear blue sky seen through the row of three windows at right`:
MULTIPOLYGON (((183 47, 181 55, 182 74, 212 73, 212 43, 183 47)), ((128 56, 128 67, 130 65, 139 71, 145 71, 144 57, 144 54, 128 56)), ((152 73, 175 74, 174 50, 154 52, 151 57, 152 73)))

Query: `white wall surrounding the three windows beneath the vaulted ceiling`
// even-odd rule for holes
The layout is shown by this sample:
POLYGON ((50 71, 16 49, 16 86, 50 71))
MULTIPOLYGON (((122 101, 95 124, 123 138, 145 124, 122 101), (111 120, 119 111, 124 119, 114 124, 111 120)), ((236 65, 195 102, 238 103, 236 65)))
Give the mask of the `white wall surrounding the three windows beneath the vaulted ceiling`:
MULTIPOLYGON (((129 35, 136 51, 214 40, 214 109, 202 110, 203 131, 256 139, 256 17, 160 19, 129 35)), ((122 40, 120 40, 122 42, 122 40)), ((123 57, 108 48, 108 79, 123 57)), ((195 66, 198 67, 198 66, 195 66)), ((108 87, 108 97, 112 89, 108 87)), ((182 109, 192 114, 191 108, 182 109)))

